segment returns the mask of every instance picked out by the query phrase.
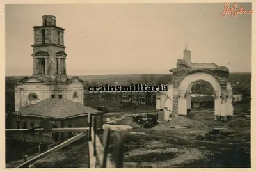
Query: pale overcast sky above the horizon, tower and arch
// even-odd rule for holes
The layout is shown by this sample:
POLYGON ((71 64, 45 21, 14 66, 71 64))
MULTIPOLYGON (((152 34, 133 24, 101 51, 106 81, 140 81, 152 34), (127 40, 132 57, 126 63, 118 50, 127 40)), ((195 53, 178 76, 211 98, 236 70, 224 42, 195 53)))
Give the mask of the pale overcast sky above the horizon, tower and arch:
MULTIPOLYGON (((164 74, 182 59, 251 71, 251 15, 221 17, 224 3, 9 4, 6 75, 33 73, 33 26, 56 16, 65 29, 68 75, 164 74)), ((251 10, 250 3, 237 8, 251 10)))

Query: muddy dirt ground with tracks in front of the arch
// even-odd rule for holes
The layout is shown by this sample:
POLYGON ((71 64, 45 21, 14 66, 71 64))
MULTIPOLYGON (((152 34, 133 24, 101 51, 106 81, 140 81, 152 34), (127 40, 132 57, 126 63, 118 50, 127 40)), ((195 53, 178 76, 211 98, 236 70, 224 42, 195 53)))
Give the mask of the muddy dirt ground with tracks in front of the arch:
MULTIPOLYGON (((250 167, 250 118, 234 116, 223 123, 214 120, 214 109, 196 109, 191 111, 191 118, 178 116, 145 129, 132 121, 133 114, 116 112, 104 116, 104 127, 120 130, 125 135, 125 168, 250 167)), ((81 139, 38 160, 34 166, 86 168, 87 157, 88 144, 86 139, 81 139)), ((20 162, 8 163, 6 167, 20 162)))

